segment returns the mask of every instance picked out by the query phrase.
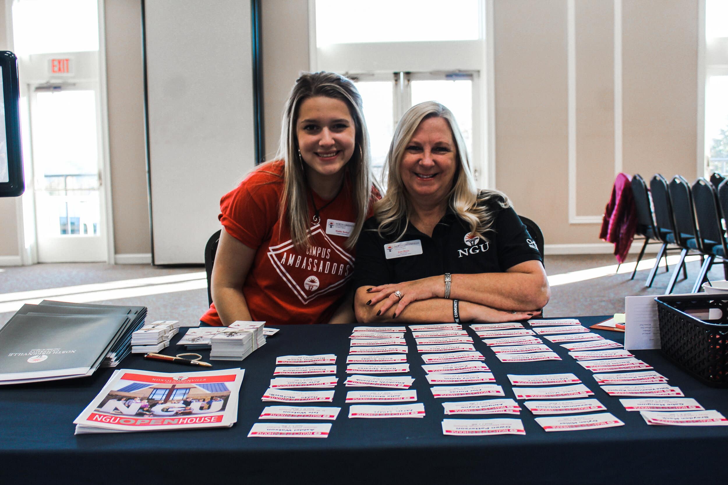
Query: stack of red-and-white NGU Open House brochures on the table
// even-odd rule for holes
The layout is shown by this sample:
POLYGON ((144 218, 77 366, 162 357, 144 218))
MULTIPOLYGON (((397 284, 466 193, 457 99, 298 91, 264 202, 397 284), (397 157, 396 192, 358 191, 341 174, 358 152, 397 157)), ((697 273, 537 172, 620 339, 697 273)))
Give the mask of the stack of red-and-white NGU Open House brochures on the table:
POLYGON ((229 428, 237 421, 244 374, 245 369, 114 371, 74 420, 75 434, 229 428))

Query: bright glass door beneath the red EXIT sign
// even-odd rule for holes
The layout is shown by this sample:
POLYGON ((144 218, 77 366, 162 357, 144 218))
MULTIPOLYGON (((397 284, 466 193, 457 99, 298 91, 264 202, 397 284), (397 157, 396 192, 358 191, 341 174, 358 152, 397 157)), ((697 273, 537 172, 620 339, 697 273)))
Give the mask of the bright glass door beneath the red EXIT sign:
POLYGON ((31 89, 38 260, 106 261, 97 91, 84 84, 31 89))

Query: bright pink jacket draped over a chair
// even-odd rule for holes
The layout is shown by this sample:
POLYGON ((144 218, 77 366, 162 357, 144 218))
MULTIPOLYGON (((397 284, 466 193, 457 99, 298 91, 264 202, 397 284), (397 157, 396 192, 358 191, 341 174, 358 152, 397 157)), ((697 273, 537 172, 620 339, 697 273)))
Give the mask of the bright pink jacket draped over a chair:
POLYGON ((612 197, 604 209, 599 238, 614 243, 614 257, 620 264, 627 259, 627 253, 637 229, 637 212, 632 195, 632 177, 620 173, 614 179, 612 197))

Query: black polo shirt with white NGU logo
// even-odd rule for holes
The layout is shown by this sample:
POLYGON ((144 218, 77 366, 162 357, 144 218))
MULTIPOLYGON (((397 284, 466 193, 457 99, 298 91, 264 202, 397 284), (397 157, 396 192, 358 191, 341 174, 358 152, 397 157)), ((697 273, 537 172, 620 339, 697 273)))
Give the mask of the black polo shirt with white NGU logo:
MULTIPOLYGON (((491 206, 492 207, 492 206, 491 206)), ((409 225, 379 236, 375 217, 364 224, 357 242, 354 287, 412 281, 445 273, 503 273, 524 261, 542 261, 536 242, 513 208, 493 207, 498 213, 488 231, 488 241, 470 238, 470 226, 448 212, 432 231, 432 237, 409 225)))

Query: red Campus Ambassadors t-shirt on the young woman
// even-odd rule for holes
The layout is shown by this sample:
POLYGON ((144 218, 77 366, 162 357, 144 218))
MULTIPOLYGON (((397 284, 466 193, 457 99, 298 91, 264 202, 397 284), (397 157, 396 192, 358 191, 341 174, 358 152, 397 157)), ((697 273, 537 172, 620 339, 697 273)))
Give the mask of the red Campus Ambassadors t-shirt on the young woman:
MULTIPOLYGON (((349 289, 354 271, 354 249, 344 246, 356 218, 352 194, 345 183, 336 201, 320 209, 320 223, 311 223, 312 247, 298 252, 288 225, 279 218, 282 173, 282 161, 251 172, 223 196, 219 219, 227 233, 256 249, 242 286, 253 320, 274 325, 324 324, 349 289)), ((328 202, 313 195, 316 207, 328 202)), ((309 212, 314 214, 310 201, 309 212)), ((200 320, 221 325, 214 303, 200 320)))

